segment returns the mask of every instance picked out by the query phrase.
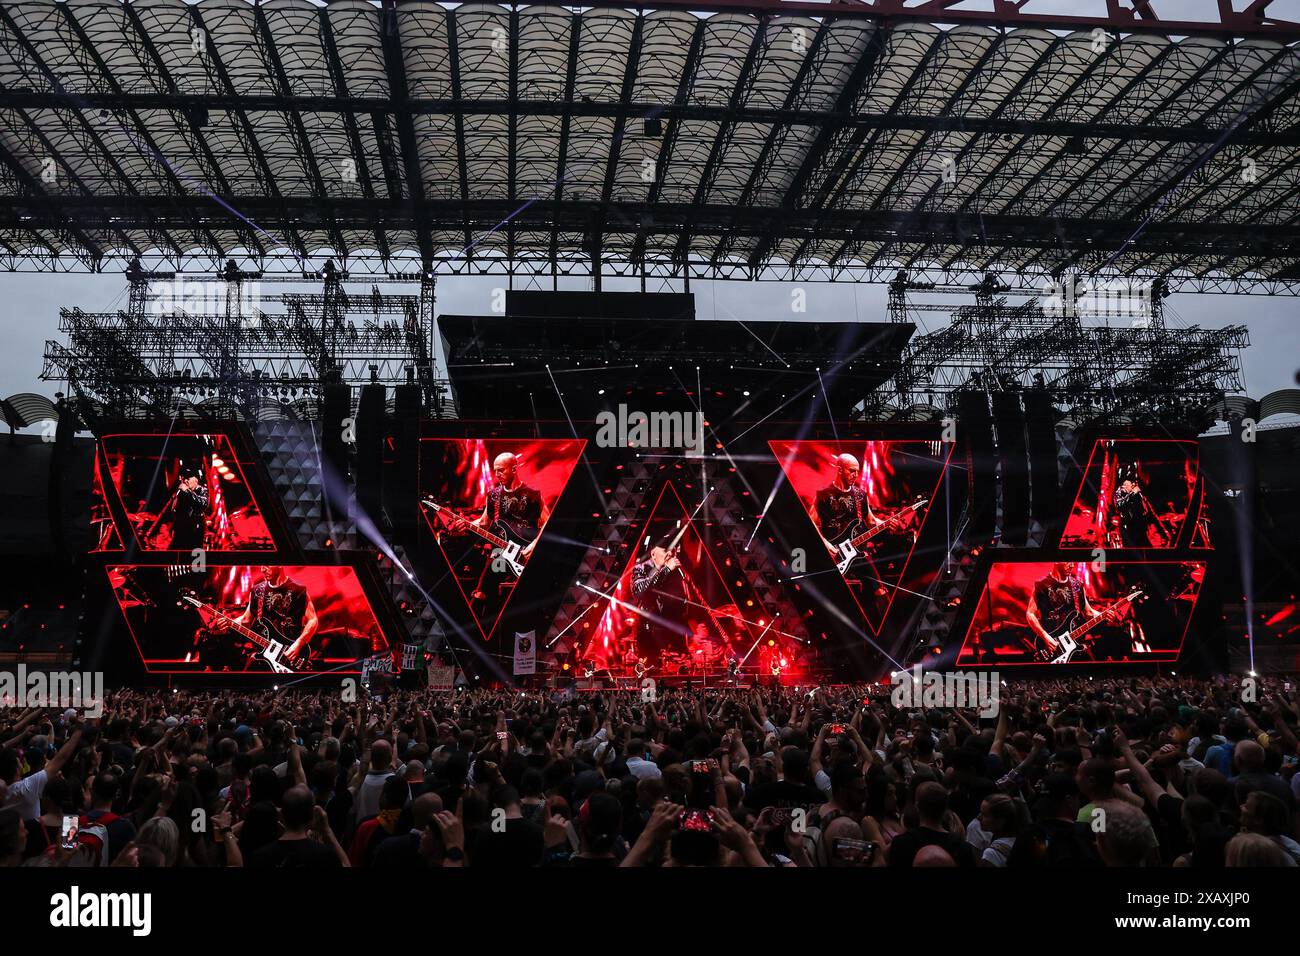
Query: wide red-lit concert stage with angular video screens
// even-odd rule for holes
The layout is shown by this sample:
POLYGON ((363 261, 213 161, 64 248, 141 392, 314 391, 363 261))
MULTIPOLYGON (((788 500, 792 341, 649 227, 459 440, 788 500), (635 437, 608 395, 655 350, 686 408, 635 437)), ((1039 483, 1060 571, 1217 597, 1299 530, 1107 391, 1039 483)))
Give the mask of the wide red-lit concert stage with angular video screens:
POLYGON ((1222 479, 1201 472, 1193 434, 1057 444, 1079 462, 1062 470, 1066 494, 1043 533, 1008 548, 998 528, 957 520, 987 454, 968 419, 949 441, 942 420, 722 418, 701 455, 602 442, 595 416, 493 411, 413 433, 393 412, 361 418, 342 457, 320 441, 328 424, 107 425, 72 522, 94 541, 81 653, 131 680, 389 671, 448 689, 608 691, 888 680, 916 661, 1052 674, 1222 659, 1216 528, 1232 503, 1206 490, 1222 479), (186 475, 207 506, 179 550, 186 475), (1156 519, 1130 528, 1114 505, 1135 493, 1156 519), (1045 649, 1086 623, 1082 607, 1040 611, 1043 636, 1028 620, 1054 567, 1105 615, 1063 659, 1045 649))

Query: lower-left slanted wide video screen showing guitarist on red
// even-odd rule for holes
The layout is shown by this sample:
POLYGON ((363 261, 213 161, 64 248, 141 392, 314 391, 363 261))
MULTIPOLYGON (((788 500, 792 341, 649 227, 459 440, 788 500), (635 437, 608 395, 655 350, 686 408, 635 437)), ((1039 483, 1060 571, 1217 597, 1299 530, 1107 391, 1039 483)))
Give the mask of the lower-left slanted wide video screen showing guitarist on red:
POLYGON ((112 564, 108 580, 151 672, 347 674, 387 648, 351 567, 112 564))

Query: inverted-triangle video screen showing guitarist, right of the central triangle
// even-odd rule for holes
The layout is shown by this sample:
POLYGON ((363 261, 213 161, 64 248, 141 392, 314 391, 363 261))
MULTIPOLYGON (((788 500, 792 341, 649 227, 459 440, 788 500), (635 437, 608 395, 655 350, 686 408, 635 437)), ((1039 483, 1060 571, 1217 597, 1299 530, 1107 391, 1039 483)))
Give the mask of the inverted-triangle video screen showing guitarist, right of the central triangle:
MULTIPOLYGON (((771 441, 812 524, 809 574, 833 570, 879 631, 935 501, 952 444, 771 441)), ((939 562, 933 562, 937 567, 939 562)))

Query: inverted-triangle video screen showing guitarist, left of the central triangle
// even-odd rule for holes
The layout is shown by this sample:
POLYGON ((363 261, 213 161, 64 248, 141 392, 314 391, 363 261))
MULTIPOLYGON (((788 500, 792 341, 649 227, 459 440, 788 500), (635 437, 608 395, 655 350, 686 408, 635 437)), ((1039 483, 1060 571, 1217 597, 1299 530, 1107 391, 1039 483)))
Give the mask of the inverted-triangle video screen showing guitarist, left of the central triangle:
POLYGON ((486 640, 573 475, 581 438, 424 438, 420 511, 486 640))

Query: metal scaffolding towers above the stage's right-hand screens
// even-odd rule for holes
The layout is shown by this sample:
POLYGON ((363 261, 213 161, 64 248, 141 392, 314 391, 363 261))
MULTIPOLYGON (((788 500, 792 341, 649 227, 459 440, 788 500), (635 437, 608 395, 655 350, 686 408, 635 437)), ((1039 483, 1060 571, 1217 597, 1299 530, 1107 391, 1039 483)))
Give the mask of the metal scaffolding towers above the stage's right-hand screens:
POLYGON ((1076 421, 1186 421, 1243 389, 1245 326, 1170 326, 1167 287, 1158 281, 1109 289, 1066 281, 1044 293, 1011 302, 1013 290, 993 277, 975 286, 896 277, 892 321, 924 329, 926 313, 941 313, 948 324, 909 342, 898 373, 864 399, 863 416, 931 419, 954 411, 965 389, 1046 389, 1076 421), (944 294, 975 302, 916 300, 944 294))

